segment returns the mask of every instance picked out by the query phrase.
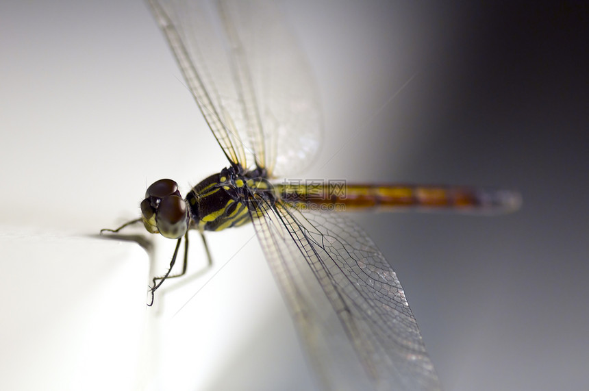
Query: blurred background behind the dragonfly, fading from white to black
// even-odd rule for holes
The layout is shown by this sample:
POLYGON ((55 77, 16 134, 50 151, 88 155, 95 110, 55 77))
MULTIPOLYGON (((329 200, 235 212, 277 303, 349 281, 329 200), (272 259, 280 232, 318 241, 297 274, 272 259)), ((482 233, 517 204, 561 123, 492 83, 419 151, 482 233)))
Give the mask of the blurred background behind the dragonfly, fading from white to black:
MULTIPOLYGON (((281 7, 325 110, 309 177, 523 194, 505 216, 354 216, 444 388, 588 389, 586 5, 281 7)), ((3 2, 0 53, 2 225, 94 232, 133 217, 151 181, 225 165, 140 1, 3 2)))

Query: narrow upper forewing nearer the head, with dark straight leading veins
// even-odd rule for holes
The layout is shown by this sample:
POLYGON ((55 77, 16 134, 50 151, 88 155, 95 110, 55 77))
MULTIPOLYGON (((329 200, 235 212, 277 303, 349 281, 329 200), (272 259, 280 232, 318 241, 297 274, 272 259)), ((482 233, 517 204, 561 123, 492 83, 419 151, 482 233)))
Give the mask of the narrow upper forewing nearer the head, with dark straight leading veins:
POLYGON ((184 80, 218 144, 232 163, 246 166, 236 131, 236 87, 215 8, 205 1, 148 0, 184 80))

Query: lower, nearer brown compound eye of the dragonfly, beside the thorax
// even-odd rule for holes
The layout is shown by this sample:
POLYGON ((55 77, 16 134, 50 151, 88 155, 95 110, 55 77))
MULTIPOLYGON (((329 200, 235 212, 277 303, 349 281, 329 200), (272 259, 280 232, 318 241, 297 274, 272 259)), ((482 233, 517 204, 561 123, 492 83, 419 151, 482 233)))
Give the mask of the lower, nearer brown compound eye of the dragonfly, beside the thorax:
POLYGON ((155 212, 155 222, 162 236, 170 239, 180 238, 188 229, 186 202, 177 195, 162 198, 155 212))

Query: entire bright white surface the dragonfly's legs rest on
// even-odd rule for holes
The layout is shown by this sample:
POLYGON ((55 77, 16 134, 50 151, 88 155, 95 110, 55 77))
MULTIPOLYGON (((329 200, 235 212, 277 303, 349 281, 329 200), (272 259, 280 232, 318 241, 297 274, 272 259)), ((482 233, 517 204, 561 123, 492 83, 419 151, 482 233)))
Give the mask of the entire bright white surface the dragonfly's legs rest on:
MULTIPOLYGON (((147 307, 150 262, 136 243, 2 227, 0 389, 312 389, 251 234, 210 238, 218 262, 202 277, 196 236, 186 278, 147 307)), ((173 242, 159 244, 163 271, 173 242)))

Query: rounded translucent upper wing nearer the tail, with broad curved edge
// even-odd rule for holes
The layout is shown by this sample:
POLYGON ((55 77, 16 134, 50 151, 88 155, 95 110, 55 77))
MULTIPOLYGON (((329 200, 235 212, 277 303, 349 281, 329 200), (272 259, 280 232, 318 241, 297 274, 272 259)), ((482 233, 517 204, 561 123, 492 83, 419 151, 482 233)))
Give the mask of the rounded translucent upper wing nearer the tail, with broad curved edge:
POLYGON ((308 166, 321 141, 321 104, 310 67, 274 3, 221 1, 231 26, 249 139, 272 173, 308 166), (253 121, 257 112, 259 126, 253 121))

